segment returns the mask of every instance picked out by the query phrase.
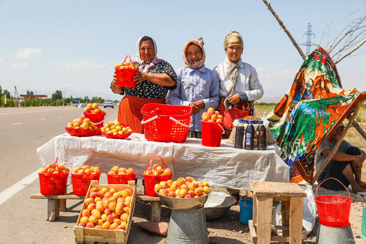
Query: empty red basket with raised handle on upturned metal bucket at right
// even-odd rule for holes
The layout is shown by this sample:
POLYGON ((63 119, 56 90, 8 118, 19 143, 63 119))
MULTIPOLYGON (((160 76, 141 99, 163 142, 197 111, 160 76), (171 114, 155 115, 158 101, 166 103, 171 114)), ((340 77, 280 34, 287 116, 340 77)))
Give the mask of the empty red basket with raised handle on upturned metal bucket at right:
MULTIPOLYGON (((329 179, 334 178, 328 178, 326 180, 329 179)), ((332 227, 348 226, 350 224, 351 202, 353 202, 350 191, 348 191, 348 189, 344 187, 348 191, 349 195, 348 198, 346 196, 333 196, 333 195, 318 196, 318 188, 322 183, 318 185, 317 190, 315 191, 316 196, 314 198, 317 204, 320 224, 332 227)), ((339 183, 341 182, 339 181, 339 183)))

